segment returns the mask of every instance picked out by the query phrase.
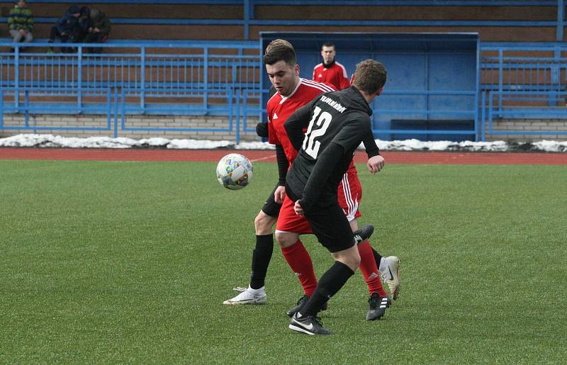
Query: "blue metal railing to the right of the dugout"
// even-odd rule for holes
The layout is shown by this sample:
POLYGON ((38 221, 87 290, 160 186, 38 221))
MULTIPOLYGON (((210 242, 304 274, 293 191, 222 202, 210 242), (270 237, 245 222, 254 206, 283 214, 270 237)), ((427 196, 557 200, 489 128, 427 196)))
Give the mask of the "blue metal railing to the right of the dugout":
MULTIPOLYGON (((567 45, 484 44, 481 140, 489 135, 564 135, 558 130, 498 130, 497 119, 566 119, 567 45)), ((510 127, 507 127, 510 128, 510 127)))

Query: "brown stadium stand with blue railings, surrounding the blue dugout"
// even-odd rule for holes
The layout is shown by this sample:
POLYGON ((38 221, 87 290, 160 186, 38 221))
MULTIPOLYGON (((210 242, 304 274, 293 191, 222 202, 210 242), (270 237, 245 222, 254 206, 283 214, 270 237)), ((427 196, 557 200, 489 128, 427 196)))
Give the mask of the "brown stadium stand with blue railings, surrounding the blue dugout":
MULTIPOLYGON (((236 134, 239 140, 242 132, 253 138, 250 125, 262 118, 266 94, 260 42, 278 33, 360 32, 478 33, 474 138, 561 139, 567 134, 563 0, 327 0, 324 7, 309 0, 286 6, 267 0, 89 0, 81 4, 96 6, 111 18, 113 30, 103 53, 86 55, 77 45, 72 55, 45 55, 48 29, 69 4, 74 1, 34 0, 33 45, 10 52, 9 38, 0 43, 0 133, 57 130, 31 126, 30 118, 39 115, 99 113, 114 121, 111 125, 111 119, 103 118, 108 123, 101 127, 103 133, 123 135, 128 116, 155 114, 222 116, 228 126, 208 128, 206 118, 190 127, 148 126, 148 133, 218 132, 220 137, 236 134), (13 116, 11 125, 2 116, 13 116), (540 124, 537 134, 528 128, 535 123, 540 124)), ((6 23, 11 6, 0 2, 0 21, 6 23)), ((313 50, 305 50, 303 60, 317 55, 320 37, 325 38, 315 36, 313 50)), ((344 44, 340 53, 354 60, 357 47, 356 41, 344 44)), ((379 58, 376 47, 373 55, 379 58)), ((424 119, 437 123, 430 116, 416 118, 424 119)), ((57 128, 77 133, 82 127, 57 128)), ((380 135, 388 136, 400 135, 380 135)))

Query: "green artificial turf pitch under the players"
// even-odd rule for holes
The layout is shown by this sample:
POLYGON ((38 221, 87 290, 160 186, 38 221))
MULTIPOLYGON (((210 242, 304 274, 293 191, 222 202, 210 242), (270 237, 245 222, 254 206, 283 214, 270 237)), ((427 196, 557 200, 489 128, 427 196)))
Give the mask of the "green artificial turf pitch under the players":
MULTIPOLYGON (((0 160, 0 362, 561 363, 567 354, 567 169, 359 166, 361 223, 402 260, 401 296, 367 322, 360 273, 322 312, 328 337, 288 330, 301 296, 274 250, 268 304, 247 286, 254 216, 276 181, 242 191, 215 163, 0 160)), ((313 237, 320 276, 332 264, 313 237)))

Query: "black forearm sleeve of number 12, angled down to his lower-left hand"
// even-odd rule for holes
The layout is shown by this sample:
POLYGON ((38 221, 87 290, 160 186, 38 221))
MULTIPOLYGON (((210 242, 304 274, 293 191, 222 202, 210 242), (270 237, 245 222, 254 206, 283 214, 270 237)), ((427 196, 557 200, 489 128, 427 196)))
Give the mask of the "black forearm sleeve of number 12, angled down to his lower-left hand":
POLYGON ((309 175, 305 189, 303 189, 303 198, 299 200, 301 208, 308 212, 318 201, 321 186, 329 179, 330 174, 335 169, 335 164, 341 159, 344 149, 341 145, 331 142, 325 148, 325 151, 319 155, 313 171, 309 175))

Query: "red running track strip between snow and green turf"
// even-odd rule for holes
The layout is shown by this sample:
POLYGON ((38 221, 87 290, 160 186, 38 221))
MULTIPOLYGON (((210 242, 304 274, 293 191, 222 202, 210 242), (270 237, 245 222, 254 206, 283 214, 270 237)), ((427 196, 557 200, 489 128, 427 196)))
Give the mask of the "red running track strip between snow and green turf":
MULTIPOLYGON (((51 159, 90 161, 218 161, 236 152, 252 162, 274 162, 274 150, 165 150, 0 147, 0 159, 51 159)), ((567 153, 516 152, 382 152, 386 164, 555 164, 566 165, 567 153)), ((364 152, 355 162, 366 162, 364 152)))

